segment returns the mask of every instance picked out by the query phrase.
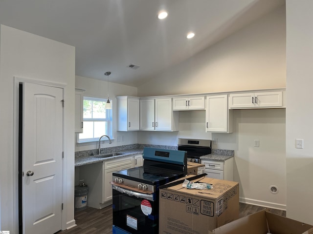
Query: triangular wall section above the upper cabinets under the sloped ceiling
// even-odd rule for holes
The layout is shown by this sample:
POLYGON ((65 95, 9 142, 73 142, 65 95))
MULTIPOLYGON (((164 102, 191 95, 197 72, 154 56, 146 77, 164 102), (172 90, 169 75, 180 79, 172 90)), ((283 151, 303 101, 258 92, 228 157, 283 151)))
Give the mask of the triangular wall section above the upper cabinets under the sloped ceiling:
POLYGON ((138 87, 138 95, 282 88, 286 20, 281 7, 138 87))

